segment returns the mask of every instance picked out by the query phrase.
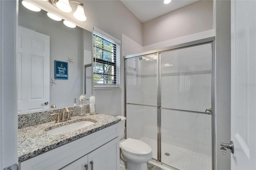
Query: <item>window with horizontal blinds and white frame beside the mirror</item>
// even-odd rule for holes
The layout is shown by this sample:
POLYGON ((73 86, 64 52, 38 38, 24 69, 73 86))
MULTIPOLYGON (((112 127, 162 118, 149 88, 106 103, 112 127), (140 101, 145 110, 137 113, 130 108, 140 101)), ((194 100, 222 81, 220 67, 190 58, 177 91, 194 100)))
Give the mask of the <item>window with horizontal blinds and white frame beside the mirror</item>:
POLYGON ((120 87, 120 43, 94 30, 93 50, 94 88, 120 87))

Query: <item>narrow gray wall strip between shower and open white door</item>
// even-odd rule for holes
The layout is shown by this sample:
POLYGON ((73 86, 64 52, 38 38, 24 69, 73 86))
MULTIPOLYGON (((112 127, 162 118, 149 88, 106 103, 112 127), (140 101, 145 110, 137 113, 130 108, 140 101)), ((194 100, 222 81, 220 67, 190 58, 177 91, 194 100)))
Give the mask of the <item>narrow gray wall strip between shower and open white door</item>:
POLYGON ((230 152, 220 152, 220 142, 230 142, 231 35, 230 0, 216 0, 216 170, 230 170, 230 152))

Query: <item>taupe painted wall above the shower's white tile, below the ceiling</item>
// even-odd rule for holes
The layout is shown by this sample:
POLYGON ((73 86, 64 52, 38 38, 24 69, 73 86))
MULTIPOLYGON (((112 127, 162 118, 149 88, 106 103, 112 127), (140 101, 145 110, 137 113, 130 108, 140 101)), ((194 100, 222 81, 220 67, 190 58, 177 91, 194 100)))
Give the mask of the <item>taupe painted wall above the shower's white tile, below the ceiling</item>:
POLYGON ((212 23, 212 0, 200 0, 143 23, 143 46, 210 30, 212 23))

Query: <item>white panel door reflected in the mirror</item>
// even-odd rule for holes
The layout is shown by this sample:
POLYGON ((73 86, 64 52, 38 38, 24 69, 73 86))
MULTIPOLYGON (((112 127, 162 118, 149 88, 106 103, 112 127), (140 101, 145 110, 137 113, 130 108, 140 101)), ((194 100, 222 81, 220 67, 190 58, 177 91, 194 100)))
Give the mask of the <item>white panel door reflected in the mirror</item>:
POLYGON ((50 37, 18 26, 18 113, 50 109, 50 37))

